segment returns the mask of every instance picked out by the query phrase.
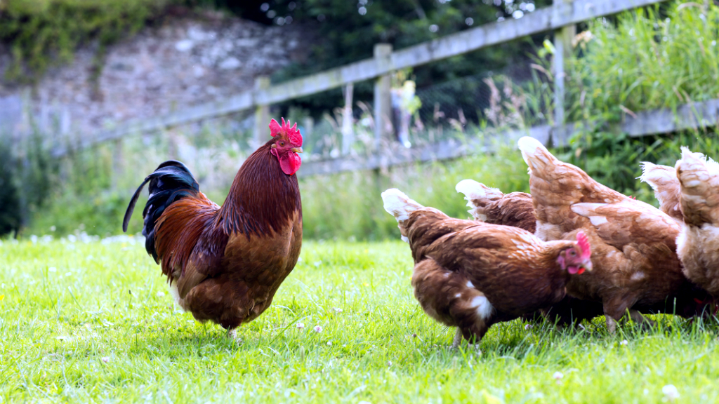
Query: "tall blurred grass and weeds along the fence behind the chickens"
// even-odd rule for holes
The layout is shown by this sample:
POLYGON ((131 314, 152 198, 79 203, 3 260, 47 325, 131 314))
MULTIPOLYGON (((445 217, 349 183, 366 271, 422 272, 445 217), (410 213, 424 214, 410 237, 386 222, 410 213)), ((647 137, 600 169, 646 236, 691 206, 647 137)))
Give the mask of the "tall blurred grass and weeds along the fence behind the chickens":
MULTIPOLYGON (((597 19, 574 42, 575 56, 567 63, 567 121, 592 129, 577 134, 569 147, 554 150, 560 159, 582 167, 611 188, 656 203, 649 187, 636 180, 641 161, 674 165, 682 145, 719 156, 714 129, 642 138, 629 138, 618 129, 623 119, 638 111, 675 109, 690 101, 719 98, 719 6, 674 3, 597 19)), ((538 50, 530 83, 504 78, 488 83, 493 99, 484 120, 448 120, 446 125, 415 122, 411 142, 416 146, 447 138, 487 137, 508 128, 553 124, 546 114, 553 107, 552 51, 550 45, 538 50)), ((350 156, 362 157, 373 143, 371 108, 365 105, 362 110, 350 156)), ((308 153, 303 157, 339 155, 340 113, 332 112, 308 132, 306 151, 314 157, 308 153)), ((290 118, 303 126, 302 111, 290 110, 290 118)), ((234 173, 252 150, 249 132, 242 130, 215 126, 196 134, 175 129, 159 136, 132 137, 123 141, 121 161, 113 160, 111 145, 79 152, 49 177, 61 185, 52 190, 48 203, 33 211, 24 233, 118 233, 134 188, 170 156, 186 162, 203 191, 222 203, 234 173)), ((528 188, 526 165, 511 147, 449 162, 301 178, 304 234, 313 239, 398 237, 380 198, 380 192, 390 187, 451 216, 467 217, 462 196, 454 190, 464 178, 504 192, 528 188)), ((141 229, 140 216, 137 212, 130 231, 141 229)))

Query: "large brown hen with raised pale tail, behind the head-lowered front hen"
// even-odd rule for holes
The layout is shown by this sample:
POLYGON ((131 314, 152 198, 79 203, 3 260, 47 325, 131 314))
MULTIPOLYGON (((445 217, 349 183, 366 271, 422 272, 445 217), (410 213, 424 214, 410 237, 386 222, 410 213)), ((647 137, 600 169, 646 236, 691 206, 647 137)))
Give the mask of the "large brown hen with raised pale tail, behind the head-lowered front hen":
POLYGON ((690 285, 676 253, 674 219, 557 160, 536 139, 523 137, 518 145, 529 166, 536 236, 570 239, 581 230, 592 245, 595 271, 572 278, 569 295, 601 302, 612 333, 628 310, 642 322, 640 310, 664 306, 677 294, 686 298, 690 285))

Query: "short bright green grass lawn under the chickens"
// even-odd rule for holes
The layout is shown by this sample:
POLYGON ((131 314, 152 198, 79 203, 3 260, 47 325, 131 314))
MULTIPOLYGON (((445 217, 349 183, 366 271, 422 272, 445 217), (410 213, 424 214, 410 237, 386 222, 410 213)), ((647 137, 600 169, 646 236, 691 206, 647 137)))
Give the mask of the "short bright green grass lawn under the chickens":
POLYGON ((306 242, 235 342, 173 306, 141 242, 5 241, 0 402, 659 403, 668 384, 677 402, 719 400, 715 323, 657 316, 609 336, 603 318, 562 332, 513 321, 481 352, 452 351, 411 267, 399 241, 306 242))

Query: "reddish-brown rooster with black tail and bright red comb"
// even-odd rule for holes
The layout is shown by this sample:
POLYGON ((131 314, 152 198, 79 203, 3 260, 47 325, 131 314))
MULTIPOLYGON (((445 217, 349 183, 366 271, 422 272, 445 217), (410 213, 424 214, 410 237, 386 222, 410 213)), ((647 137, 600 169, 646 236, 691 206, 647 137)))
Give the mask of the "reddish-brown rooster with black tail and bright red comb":
POLYGON ((247 157, 222 206, 210 201, 183 163, 163 162, 132 196, 123 231, 142 188, 147 253, 161 263, 170 293, 198 321, 234 329, 260 316, 295 267, 302 244, 297 124, 270 121, 272 139, 247 157))

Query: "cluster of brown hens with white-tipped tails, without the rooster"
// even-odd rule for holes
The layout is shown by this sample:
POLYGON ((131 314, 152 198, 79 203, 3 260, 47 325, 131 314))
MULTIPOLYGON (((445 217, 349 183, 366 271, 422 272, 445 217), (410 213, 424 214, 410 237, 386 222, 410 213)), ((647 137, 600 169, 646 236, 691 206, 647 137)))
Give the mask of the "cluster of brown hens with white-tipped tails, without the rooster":
POLYGON ((518 141, 527 193, 462 180, 475 221, 452 219, 396 189, 382 194, 410 244, 412 285, 424 311, 479 341, 500 321, 537 313, 559 323, 604 315, 712 315, 719 297, 719 165, 682 149, 676 168, 644 163, 661 207, 624 196, 518 141), (586 270, 586 271, 585 271, 586 270))

